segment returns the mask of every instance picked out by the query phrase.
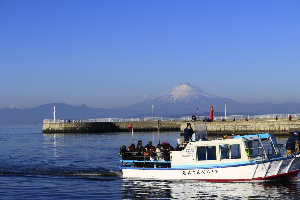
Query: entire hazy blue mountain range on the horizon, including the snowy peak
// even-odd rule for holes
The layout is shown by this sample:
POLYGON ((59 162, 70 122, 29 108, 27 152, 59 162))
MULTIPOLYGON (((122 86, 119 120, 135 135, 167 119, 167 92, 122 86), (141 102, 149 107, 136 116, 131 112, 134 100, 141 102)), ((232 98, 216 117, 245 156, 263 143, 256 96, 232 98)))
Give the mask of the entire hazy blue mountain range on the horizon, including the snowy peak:
POLYGON ((196 85, 181 83, 165 92, 163 95, 146 100, 132 106, 115 109, 89 108, 71 106, 65 103, 51 103, 30 109, 0 109, 0 125, 27 125, 43 123, 44 119, 53 118, 55 106, 57 119, 74 118, 131 118, 152 117, 152 105, 154 115, 160 116, 189 116, 196 113, 199 108, 199 116, 207 116, 212 103, 215 116, 224 115, 226 101, 226 114, 252 115, 252 114, 289 114, 300 113, 300 103, 238 103, 232 99, 217 97, 196 85), (201 115, 201 113, 203 115, 201 115))

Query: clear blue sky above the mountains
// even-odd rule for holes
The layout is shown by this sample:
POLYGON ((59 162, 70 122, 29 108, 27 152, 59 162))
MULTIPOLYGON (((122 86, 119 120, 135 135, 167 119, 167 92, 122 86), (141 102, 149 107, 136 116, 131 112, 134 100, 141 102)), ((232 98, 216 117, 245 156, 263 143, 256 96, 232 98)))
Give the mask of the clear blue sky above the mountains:
POLYGON ((300 1, 1 0, 0 108, 115 108, 183 82, 300 103, 299 35, 300 1))

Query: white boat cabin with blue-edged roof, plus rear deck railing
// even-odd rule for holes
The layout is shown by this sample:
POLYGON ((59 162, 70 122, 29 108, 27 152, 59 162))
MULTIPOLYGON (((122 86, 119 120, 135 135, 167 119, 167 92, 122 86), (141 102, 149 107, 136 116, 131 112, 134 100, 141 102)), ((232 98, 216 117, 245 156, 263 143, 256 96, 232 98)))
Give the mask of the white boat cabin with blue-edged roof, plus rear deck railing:
MULTIPOLYGON (((193 137, 195 139, 197 137, 193 137)), ((179 139, 181 140, 181 139, 179 139)), ((214 140, 195 139, 183 143, 182 151, 171 151, 170 161, 150 161, 144 156, 143 161, 121 160, 122 166, 134 167, 143 163, 144 167, 214 167, 244 164, 281 157, 279 147, 273 135, 268 133, 246 136, 230 136, 214 140), (123 162, 133 164, 124 165, 123 162)), ((157 160, 157 159, 156 159, 157 160)), ((141 165, 139 165, 141 167, 141 165)))

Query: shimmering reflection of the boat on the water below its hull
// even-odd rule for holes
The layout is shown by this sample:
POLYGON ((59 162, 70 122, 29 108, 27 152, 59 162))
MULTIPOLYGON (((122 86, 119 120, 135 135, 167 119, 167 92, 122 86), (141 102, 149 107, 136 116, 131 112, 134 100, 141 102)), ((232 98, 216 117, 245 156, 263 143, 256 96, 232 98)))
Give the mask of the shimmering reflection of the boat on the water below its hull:
POLYGON ((300 199, 299 178, 284 182, 152 181, 123 178, 123 199, 300 199), (284 193, 284 198, 283 194, 284 193))

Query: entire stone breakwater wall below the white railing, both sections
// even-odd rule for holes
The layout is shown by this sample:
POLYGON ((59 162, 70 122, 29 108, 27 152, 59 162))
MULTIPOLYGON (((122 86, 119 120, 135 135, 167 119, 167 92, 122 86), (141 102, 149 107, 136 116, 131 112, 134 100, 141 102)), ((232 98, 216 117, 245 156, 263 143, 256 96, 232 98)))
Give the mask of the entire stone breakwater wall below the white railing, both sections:
MULTIPOLYGON (((127 132, 130 122, 93 122, 93 123, 44 123, 43 133, 107 133, 127 132)), ((180 131, 184 133, 186 123, 183 121, 161 121, 161 131, 180 131)), ((190 122, 193 129, 205 122, 190 122)), ((207 122, 210 135, 257 134, 289 135, 294 130, 300 132, 300 120, 253 120, 253 121, 214 121, 207 122)), ((157 131, 157 121, 133 122, 134 131, 157 131)))

